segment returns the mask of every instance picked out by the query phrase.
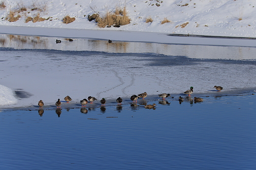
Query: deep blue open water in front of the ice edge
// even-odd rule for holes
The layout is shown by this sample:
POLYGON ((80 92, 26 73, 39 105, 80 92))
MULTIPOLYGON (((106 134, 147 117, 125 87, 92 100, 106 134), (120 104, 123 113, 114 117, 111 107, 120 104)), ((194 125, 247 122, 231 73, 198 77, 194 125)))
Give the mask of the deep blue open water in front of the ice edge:
POLYGON ((255 95, 167 101, 3 110, 0 169, 255 170, 255 95))

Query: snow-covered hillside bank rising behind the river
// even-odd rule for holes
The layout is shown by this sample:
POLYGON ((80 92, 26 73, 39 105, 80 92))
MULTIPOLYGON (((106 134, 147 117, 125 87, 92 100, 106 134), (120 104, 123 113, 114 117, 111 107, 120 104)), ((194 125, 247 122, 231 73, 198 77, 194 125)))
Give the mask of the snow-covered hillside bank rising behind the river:
POLYGON ((255 37, 255 0, 2 0, 0 25, 255 37), (88 16, 126 7, 130 24, 99 28, 88 16), (26 9, 21 10, 21 9, 26 9), (16 22, 6 17, 16 11, 16 22), (18 13, 18 12, 19 13, 18 13), (25 23, 28 17, 46 19, 25 23), (64 24, 65 16, 75 18, 64 24), (151 18, 152 22, 146 23, 151 18), (163 20, 169 23, 161 24, 163 20))

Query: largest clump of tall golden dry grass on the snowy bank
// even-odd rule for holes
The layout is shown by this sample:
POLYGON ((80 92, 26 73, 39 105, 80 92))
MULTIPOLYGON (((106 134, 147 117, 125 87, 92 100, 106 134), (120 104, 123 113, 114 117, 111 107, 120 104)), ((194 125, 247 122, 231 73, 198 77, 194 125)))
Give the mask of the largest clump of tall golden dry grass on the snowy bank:
POLYGON ((120 27, 120 25, 126 25, 130 24, 130 19, 127 16, 126 8, 120 9, 116 8, 116 11, 114 13, 107 12, 104 17, 96 17, 96 22, 98 23, 98 27, 104 28, 106 26, 114 26, 114 27, 120 27))

